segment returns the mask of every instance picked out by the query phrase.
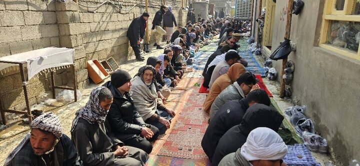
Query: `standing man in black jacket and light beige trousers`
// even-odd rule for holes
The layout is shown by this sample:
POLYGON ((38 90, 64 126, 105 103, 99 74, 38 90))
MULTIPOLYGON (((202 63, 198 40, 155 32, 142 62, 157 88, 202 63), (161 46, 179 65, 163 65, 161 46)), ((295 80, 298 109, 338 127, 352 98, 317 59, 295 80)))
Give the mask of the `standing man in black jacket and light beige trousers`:
POLYGON ((161 5, 160 10, 156 11, 155 16, 152 20, 152 32, 155 32, 155 44, 156 49, 163 49, 160 47, 161 37, 166 33, 164 29, 161 27, 162 15, 167 11, 167 6, 161 5))

